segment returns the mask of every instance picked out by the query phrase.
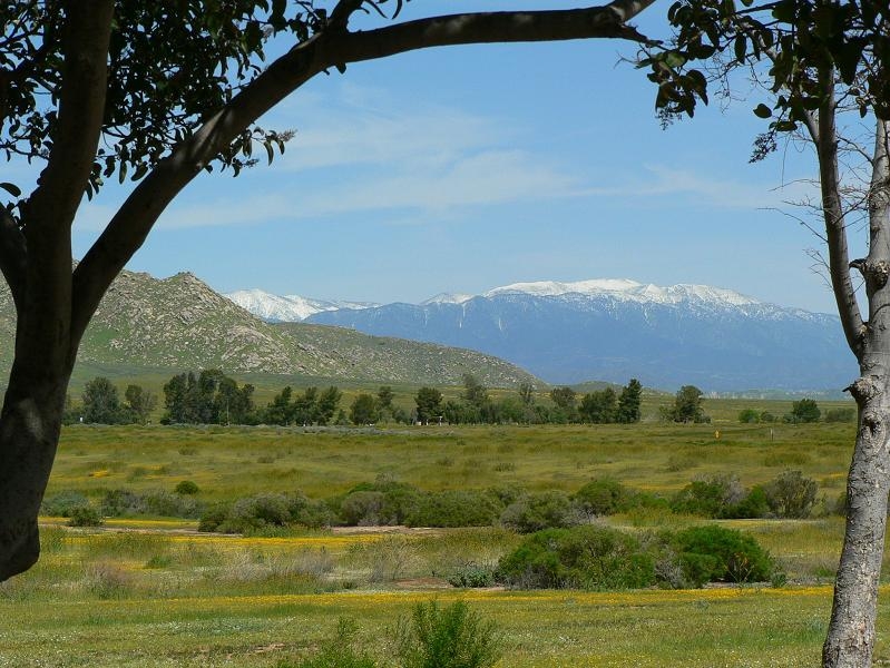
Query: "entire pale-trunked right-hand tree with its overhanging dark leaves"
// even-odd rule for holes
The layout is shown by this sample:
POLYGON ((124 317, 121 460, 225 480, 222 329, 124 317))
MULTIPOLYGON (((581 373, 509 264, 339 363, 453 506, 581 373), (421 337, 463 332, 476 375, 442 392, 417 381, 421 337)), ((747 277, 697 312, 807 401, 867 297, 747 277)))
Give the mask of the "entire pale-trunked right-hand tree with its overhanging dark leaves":
MULTIPOLYGON (((812 149, 816 203, 805 207, 847 343, 860 376, 847 390, 859 429, 847 482, 847 527, 825 668, 867 667, 874 647, 890 492, 890 9, 883 0, 681 0, 668 12, 675 40, 640 60, 657 84, 663 118, 693 115, 712 84, 731 85, 735 69, 760 84, 754 114, 765 131, 752 159, 780 146, 812 149), (848 120, 849 119, 849 120, 848 120), (849 236, 861 233, 865 257, 850 258, 849 236), (857 292, 862 277, 863 291, 857 292)), ((747 86, 747 84, 746 84, 747 86)), ((802 203, 808 205, 809 203, 802 203)), ((855 247, 855 246, 852 246, 855 247)))

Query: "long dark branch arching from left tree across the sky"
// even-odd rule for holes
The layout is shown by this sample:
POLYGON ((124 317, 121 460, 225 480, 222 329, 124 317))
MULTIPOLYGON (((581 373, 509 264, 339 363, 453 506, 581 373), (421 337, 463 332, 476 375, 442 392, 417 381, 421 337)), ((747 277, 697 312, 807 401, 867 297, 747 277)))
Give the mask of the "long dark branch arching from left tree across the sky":
MULTIPOLYGON (((105 291, 143 245, 158 216, 201 170, 287 95, 319 72, 348 62, 450 45, 623 38, 644 41, 625 24, 655 0, 556 11, 464 13, 369 31, 334 27, 296 45, 211 117, 136 187, 74 274, 71 345, 76 346, 105 291)), ((339 6, 348 12, 354 3, 339 6)))

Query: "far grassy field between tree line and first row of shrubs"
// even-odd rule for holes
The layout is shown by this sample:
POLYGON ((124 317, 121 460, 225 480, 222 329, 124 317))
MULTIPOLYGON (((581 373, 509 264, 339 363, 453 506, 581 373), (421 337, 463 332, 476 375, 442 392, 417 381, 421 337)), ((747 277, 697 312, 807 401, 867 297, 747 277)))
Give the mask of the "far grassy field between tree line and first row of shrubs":
POLYGON ((785 469, 843 490, 852 424, 302 428, 66 428, 49 493, 172 490, 193 480, 206 498, 302 490, 345 492, 387 474, 424 490, 516 484, 575 491, 610 475, 651 491, 733 472, 765 482, 785 469), (720 432, 717 438, 716 432, 720 432))

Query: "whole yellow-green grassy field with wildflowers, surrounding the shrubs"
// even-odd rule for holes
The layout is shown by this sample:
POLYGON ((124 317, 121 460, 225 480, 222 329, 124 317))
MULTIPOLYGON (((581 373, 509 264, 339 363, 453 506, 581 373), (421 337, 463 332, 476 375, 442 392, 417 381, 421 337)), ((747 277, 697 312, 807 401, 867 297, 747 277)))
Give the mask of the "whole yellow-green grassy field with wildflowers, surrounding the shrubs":
MULTIPOLYGON (((733 472, 751 485, 786 469, 815 479, 828 501, 842 492, 853 425, 745 426, 730 421, 737 410, 700 426, 75 426, 63 433, 50 493, 172 490, 188 479, 205 501, 297 489, 324 498, 379 474, 427 490, 567 491, 612 475, 668 493, 703 474, 733 472)), ((782 411, 773 402, 770 410, 782 411)), ((646 532, 705 520, 649 509, 608 521, 646 532)), ((495 563, 518 544, 498 528, 246 538, 199 534, 195 522, 163 518, 102 529, 43 523, 40 563, 0 584, 0 666, 278 666, 312 654, 339 617, 354 619, 362 645, 387 658, 399 617, 431 598, 463 599, 495 620, 502 667, 812 666, 843 531, 831 515, 724 521, 756 536, 781 563, 790 584, 777 589, 527 592, 447 582, 462 564, 495 563)), ((887 629, 882 603, 878 661, 890 660, 887 629)))

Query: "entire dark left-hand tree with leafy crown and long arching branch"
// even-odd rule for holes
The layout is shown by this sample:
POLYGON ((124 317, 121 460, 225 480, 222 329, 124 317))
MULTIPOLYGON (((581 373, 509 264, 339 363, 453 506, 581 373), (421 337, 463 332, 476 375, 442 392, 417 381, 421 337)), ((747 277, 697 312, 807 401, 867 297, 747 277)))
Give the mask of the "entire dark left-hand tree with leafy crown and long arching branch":
MULTIPOLYGON (((84 332, 111 281, 198 174, 272 159, 290 132, 255 121, 322 72, 415 49, 493 41, 617 38, 654 0, 561 11, 436 16, 351 30, 360 10, 402 0, 7 2, 0 18, 0 151, 37 161, 37 187, 0 207, 0 272, 18 316, 0 413, 0 579, 39 554, 37 513, 84 332), (264 62, 270 40, 291 48, 264 62), (102 179, 135 180, 72 271, 71 225, 102 179)), ((373 12, 372 12, 373 14, 373 12)))

